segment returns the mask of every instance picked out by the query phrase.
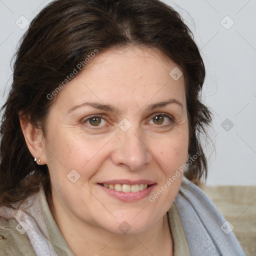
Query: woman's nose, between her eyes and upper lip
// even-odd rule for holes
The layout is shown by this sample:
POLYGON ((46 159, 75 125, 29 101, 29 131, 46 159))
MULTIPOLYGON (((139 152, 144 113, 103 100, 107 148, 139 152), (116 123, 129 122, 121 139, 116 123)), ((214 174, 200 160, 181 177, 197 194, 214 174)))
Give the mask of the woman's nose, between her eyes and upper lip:
POLYGON ((147 146, 144 133, 131 126, 128 130, 118 129, 113 141, 112 161, 130 171, 139 171, 151 160, 151 151, 147 146))

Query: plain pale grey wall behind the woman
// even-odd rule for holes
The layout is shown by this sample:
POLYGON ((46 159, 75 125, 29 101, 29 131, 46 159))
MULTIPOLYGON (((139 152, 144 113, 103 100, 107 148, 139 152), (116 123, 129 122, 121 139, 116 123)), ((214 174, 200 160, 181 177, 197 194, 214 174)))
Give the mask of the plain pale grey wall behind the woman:
MULTIPOLYGON (((10 60, 31 19, 50 0, 0 0, 0 106, 10 60)), ((214 114, 209 185, 256 184, 256 0, 164 0, 194 34, 206 68, 202 101, 214 114)), ((4 94, 5 91, 5 94, 4 94)))

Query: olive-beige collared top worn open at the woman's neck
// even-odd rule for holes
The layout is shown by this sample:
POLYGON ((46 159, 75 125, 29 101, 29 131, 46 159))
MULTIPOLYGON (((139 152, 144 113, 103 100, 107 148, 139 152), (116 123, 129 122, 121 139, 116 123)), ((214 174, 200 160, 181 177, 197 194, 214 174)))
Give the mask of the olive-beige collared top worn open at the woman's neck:
MULTIPOLYGON (((63 238, 46 200, 43 189, 39 192, 40 202, 44 222, 46 225, 49 241, 57 255, 61 256, 75 256, 71 249, 68 247, 65 239, 63 238)), ((37 205, 36 207, 39 207, 37 205)), ((177 207, 172 203, 167 212, 170 231, 173 239, 173 255, 174 256, 190 256, 188 244, 185 238, 183 226, 181 224, 177 207)), ((43 221, 43 219, 41 219, 43 221)), ((0 251, 1 255, 11 256, 35 256, 35 251, 31 246, 26 233, 20 234, 17 232, 16 226, 18 222, 15 218, 8 220, 0 217, 0 251)))

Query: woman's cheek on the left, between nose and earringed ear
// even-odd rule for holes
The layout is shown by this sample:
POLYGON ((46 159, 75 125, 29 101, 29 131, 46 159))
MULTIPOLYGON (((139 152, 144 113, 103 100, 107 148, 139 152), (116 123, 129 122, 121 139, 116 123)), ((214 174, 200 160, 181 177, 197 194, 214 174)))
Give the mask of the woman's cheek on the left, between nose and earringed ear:
POLYGON ((74 169, 88 179, 100 165, 98 152, 106 142, 106 138, 84 135, 74 129, 51 130, 45 146, 51 177, 66 183, 67 174, 74 169))

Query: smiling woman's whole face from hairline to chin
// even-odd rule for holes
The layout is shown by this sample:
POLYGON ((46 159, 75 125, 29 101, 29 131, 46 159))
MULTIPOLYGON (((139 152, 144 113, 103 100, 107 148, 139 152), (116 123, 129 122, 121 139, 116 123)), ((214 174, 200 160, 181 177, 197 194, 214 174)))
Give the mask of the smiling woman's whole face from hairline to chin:
POLYGON ((188 150, 177 70, 157 49, 111 49, 57 93, 44 144, 54 209, 115 233, 139 233, 163 217, 182 174, 167 181, 188 150))

